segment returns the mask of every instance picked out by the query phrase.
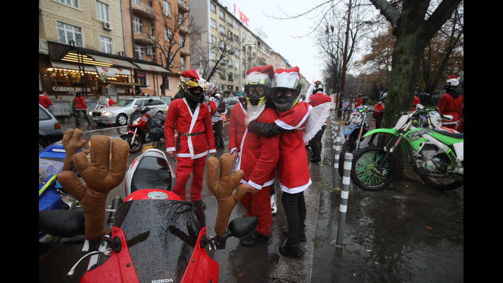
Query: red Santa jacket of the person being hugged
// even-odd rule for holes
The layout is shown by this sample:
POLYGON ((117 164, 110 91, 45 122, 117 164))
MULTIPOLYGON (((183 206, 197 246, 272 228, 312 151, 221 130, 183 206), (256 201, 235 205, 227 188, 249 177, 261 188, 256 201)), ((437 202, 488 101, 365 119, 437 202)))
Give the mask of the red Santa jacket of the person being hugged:
MULTIPOLYGON (((236 107, 239 106, 234 106, 234 108, 236 107)), ((276 119, 278 119, 276 110, 265 108, 256 122, 273 123, 276 119)), ((263 186, 274 183, 274 167, 276 167, 280 155, 279 140, 279 135, 266 137, 245 130, 241 141, 241 156, 236 166, 236 170, 241 169, 244 173, 241 183, 259 190, 263 186)))

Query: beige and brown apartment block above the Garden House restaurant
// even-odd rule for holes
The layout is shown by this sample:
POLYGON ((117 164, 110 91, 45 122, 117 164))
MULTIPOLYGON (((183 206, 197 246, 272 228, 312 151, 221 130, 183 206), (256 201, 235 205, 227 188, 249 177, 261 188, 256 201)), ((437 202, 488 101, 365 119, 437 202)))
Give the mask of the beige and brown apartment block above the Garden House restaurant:
POLYGON ((165 87, 174 96, 190 64, 187 18, 182 0, 40 0, 39 89, 117 100, 161 95, 165 87), (170 56, 167 46, 176 46, 170 63, 162 56, 170 56))

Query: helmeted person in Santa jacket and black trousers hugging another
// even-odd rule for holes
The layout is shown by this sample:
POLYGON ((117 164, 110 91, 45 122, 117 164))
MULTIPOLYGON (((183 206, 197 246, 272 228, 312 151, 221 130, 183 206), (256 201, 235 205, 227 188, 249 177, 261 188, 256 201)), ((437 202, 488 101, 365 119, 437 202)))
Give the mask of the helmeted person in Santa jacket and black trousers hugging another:
POLYGON ((304 254, 299 246, 299 241, 306 241, 304 191, 312 183, 303 128, 313 106, 300 100, 301 89, 299 67, 277 69, 270 96, 279 112, 279 118, 274 123, 251 122, 248 126, 249 132, 261 135, 280 134, 277 168, 288 231, 284 232, 287 241, 285 246, 279 248, 279 252, 287 257, 300 257, 304 254))

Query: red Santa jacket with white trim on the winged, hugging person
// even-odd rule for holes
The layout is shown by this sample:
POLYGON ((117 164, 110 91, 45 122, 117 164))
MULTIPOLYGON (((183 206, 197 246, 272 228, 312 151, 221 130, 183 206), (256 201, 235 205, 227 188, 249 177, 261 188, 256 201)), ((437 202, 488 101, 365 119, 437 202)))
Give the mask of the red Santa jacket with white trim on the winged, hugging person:
POLYGON ((278 178, 281 190, 289 194, 300 193, 311 185, 307 153, 302 139, 304 124, 311 109, 311 105, 301 101, 292 109, 280 112, 275 121, 278 126, 288 130, 280 136, 278 178))

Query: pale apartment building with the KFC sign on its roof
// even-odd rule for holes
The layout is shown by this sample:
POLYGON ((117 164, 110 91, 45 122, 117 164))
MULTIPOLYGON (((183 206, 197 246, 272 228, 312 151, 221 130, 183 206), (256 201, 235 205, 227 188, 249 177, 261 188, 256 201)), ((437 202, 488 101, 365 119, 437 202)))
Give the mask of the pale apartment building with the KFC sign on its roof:
POLYGON ((192 36, 192 69, 221 92, 240 92, 246 71, 269 64, 269 46, 234 11, 216 0, 191 2, 190 14, 201 33, 192 36))

